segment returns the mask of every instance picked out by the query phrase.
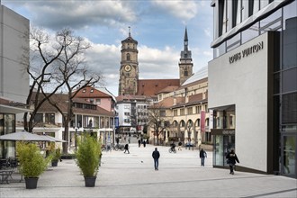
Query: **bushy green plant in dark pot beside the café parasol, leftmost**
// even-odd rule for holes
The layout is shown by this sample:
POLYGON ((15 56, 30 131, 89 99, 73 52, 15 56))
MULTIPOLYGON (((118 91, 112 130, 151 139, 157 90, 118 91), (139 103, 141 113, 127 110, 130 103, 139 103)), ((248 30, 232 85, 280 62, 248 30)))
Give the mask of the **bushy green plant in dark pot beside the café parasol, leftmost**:
POLYGON ((39 176, 45 171, 51 157, 44 158, 34 143, 17 142, 16 152, 20 173, 24 176, 27 189, 35 189, 39 176))

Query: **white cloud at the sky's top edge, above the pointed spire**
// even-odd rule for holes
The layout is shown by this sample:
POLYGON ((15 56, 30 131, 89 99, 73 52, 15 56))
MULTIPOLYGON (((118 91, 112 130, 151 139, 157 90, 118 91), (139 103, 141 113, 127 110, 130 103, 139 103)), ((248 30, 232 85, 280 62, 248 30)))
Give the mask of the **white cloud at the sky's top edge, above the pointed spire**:
POLYGON ((191 20, 198 13, 198 5, 191 0, 160 1, 152 0, 152 4, 161 8, 164 12, 174 15, 184 23, 191 20))

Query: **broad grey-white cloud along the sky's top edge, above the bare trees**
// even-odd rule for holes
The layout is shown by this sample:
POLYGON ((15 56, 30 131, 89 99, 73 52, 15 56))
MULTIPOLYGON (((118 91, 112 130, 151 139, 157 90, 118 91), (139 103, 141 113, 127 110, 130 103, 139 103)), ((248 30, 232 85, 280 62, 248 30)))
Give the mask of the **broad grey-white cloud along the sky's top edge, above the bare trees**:
POLYGON ((30 12, 35 25, 58 30, 92 25, 121 27, 136 21, 133 6, 124 1, 27 1, 23 6, 30 12))

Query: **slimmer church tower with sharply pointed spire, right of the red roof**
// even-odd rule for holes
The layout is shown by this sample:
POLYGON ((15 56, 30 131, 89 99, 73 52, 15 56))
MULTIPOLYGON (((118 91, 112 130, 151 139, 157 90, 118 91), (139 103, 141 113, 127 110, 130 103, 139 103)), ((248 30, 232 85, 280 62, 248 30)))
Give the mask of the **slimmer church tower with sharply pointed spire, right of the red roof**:
POLYGON ((184 84, 184 81, 193 75, 193 63, 192 53, 188 49, 188 34, 185 28, 184 31, 184 50, 181 51, 181 58, 179 59, 179 80, 180 85, 184 84))

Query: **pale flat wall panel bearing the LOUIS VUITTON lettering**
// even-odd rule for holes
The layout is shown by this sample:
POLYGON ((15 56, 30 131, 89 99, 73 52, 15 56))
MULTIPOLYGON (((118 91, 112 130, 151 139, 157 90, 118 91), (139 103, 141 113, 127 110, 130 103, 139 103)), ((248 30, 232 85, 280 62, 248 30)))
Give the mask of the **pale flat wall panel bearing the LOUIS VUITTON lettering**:
POLYGON ((267 52, 265 33, 209 62, 209 107, 235 104, 240 166, 261 171, 267 169, 267 52), (263 49, 243 56, 243 50, 262 41, 263 49))

